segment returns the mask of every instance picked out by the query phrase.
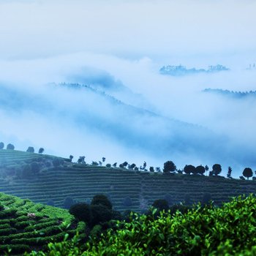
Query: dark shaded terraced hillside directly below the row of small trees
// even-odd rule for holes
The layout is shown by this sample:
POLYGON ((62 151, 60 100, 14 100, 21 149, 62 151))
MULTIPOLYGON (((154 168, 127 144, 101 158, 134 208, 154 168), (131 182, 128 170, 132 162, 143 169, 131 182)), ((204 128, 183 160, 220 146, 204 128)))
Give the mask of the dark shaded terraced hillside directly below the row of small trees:
POLYGON ((4 164, 3 160, 0 162, 1 192, 37 203, 51 200, 58 207, 64 206, 67 197, 89 203, 98 193, 108 195, 118 211, 143 211, 154 200, 162 198, 170 203, 179 203, 186 197, 190 197, 192 203, 198 202, 206 192, 210 192, 211 199, 219 205, 231 196, 256 193, 255 181, 78 165, 64 159, 54 167, 54 157, 21 151, 2 150, 0 156, 4 159, 4 164), (24 168, 34 161, 38 161, 39 169, 24 177, 17 166, 24 168))

